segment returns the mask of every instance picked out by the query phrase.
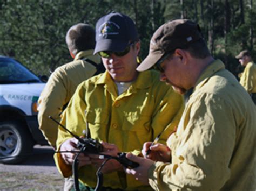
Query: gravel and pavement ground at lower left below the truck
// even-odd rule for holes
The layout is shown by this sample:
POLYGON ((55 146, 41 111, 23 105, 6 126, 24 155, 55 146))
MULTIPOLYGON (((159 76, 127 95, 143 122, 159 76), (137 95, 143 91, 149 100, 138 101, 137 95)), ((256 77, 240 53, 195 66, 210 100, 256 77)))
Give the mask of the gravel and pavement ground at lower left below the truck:
POLYGON ((0 164, 0 190, 63 190, 50 146, 35 146, 22 164, 0 164))

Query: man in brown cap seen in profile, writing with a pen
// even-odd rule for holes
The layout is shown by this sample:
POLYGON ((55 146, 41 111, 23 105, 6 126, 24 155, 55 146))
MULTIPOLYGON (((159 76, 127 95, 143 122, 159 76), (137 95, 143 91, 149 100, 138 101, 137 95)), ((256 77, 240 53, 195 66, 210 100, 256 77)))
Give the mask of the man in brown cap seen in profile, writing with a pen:
POLYGON ((167 146, 147 142, 145 158, 126 154, 140 164, 126 173, 155 190, 254 190, 255 106, 212 58, 199 26, 183 19, 160 26, 137 70, 152 66, 178 93, 193 93, 167 146))

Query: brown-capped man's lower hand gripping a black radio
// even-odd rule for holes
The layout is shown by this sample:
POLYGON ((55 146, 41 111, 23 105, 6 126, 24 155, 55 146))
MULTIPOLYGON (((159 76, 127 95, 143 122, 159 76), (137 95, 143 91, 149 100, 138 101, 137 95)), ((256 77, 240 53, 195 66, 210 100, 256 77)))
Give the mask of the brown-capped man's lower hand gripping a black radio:
POLYGON ((133 155, 131 153, 127 153, 126 158, 134 162, 138 162, 139 167, 132 169, 126 168, 125 172, 127 174, 132 174, 136 178, 136 180, 139 180, 145 185, 149 185, 149 179, 147 178, 147 170, 154 164, 154 161, 150 159, 137 157, 136 155, 133 155))

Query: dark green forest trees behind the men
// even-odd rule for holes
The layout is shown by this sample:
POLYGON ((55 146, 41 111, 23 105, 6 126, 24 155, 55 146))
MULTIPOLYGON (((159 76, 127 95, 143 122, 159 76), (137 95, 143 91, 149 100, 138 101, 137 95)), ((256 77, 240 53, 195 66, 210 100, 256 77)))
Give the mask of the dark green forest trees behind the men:
POLYGON ((183 5, 177 0, 2 0, 0 55, 14 56, 36 74, 49 75, 49 70, 72 60, 65 44, 70 26, 95 26, 103 15, 118 11, 136 22, 142 41, 140 56, 144 59, 154 31, 167 20, 179 19, 182 12, 184 18, 199 23, 206 40, 213 38, 214 56, 227 62, 227 68, 235 74, 238 63, 234 55, 255 47, 255 37, 251 44, 250 27, 255 34, 256 0, 252 0, 253 8, 250 1, 243 3, 243 22, 239 1, 232 0, 227 1, 227 7, 225 1, 215 0, 183 0, 183 5), (213 36, 209 33, 211 19, 213 36))

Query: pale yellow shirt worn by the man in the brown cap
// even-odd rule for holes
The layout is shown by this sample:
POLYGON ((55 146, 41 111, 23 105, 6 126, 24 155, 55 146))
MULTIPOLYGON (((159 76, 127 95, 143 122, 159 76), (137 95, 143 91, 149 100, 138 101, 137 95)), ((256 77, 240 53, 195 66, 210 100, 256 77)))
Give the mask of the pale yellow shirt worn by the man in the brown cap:
POLYGON ((201 74, 176 133, 170 163, 148 171, 155 190, 254 190, 256 111, 220 60, 201 74))

